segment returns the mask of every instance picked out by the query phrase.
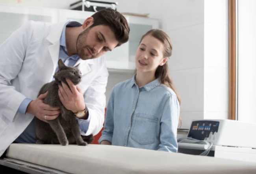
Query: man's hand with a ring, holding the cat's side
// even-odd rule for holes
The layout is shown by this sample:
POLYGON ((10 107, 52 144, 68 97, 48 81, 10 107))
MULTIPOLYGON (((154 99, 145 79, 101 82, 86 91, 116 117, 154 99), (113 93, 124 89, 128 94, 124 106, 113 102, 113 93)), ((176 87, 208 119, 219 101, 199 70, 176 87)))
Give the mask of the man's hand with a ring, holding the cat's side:
POLYGON ((47 120, 54 120, 59 116, 60 110, 58 107, 51 107, 44 103, 48 91, 32 100, 26 109, 26 113, 35 115, 39 120, 47 122, 47 120))

